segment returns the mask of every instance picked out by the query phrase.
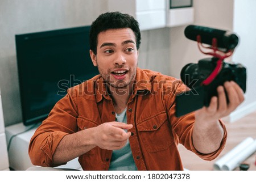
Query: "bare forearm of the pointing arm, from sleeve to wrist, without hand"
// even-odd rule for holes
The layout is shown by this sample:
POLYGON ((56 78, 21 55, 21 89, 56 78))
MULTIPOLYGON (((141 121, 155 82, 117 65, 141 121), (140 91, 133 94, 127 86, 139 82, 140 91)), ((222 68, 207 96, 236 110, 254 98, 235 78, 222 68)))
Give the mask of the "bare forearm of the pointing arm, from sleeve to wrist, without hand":
POLYGON ((64 136, 53 154, 53 166, 67 163, 96 147, 92 142, 92 132, 93 129, 86 129, 64 136))

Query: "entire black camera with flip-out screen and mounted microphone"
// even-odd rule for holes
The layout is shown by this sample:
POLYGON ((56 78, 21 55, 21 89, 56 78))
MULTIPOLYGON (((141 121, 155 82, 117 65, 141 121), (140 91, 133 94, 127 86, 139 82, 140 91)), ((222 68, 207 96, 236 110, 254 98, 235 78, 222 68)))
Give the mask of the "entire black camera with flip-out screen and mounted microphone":
POLYGON ((236 48, 237 35, 220 29, 193 25, 186 27, 184 33, 188 39, 197 41, 202 53, 212 57, 204 58, 198 64, 187 64, 181 70, 181 80, 190 90, 176 96, 177 117, 204 105, 209 106, 212 96, 217 95, 217 87, 226 81, 234 81, 243 92, 246 91, 246 68, 241 64, 229 64, 224 61, 236 48))

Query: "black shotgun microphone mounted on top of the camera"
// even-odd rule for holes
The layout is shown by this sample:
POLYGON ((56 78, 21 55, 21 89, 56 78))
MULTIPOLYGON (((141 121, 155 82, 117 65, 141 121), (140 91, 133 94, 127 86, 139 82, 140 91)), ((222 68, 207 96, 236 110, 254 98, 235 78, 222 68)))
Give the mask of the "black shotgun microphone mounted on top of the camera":
POLYGON ((200 36, 201 43, 208 45, 212 45, 212 40, 215 38, 218 48, 226 50, 233 50, 238 44, 236 34, 221 29, 189 25, 185 28, 184 34, 188 39, 194 41, 197 41, 197 36, 200 36))

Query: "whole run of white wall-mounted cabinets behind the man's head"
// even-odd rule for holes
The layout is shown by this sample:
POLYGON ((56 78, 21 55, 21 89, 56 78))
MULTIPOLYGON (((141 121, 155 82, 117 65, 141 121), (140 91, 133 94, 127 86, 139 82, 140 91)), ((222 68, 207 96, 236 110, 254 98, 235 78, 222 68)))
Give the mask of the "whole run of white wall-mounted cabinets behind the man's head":
POLYGON ((108 0, 108 11, 133 15, 141 31, 184 26, 194 22, 193 7, 170 9, 170 0, 108 0))

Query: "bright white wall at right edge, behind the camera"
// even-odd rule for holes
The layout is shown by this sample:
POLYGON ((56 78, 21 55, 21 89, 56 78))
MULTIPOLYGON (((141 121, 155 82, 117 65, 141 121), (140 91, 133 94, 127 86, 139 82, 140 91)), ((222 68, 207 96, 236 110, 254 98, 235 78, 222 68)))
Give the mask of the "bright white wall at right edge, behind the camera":
POLYGON ((240 62, 247 69, 245 102, 230 115, 236 120, 256 110, 256 1, 234 0, 234 32, 240 36, 233 61, 240 62))

